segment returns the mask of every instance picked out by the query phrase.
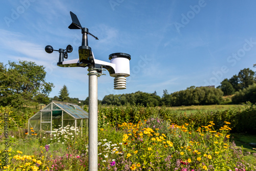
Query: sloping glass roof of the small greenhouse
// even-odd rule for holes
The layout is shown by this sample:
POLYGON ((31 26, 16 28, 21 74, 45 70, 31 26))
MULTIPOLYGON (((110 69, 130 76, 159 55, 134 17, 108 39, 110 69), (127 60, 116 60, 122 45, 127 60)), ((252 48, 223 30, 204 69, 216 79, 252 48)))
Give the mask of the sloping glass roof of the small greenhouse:
MULTIPOLYGON (((44 109, 41 111, 58 111, 63 110, 70 114, 75 119, 88 119, 89 114, 88 112, 81 109, 81 107, 74 103, 69 102, 62 102, 57 100, 52 100, 50 104, 48 104, 44 109)), ((54 113, 53 113, 54 115, 54 113)))

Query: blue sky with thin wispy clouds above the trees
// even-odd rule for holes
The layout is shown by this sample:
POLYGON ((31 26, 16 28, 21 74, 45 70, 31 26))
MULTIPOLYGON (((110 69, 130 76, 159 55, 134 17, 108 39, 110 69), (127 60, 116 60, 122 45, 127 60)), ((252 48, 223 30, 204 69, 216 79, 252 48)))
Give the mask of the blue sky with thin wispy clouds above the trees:
POLYGON ((142 91, 169 93, 190 86, 219 86, 224 78, 256 63, 256 1, 3 1, 0 10, 0 54, 8 60, 29 60, 44 66, 46 81, 58 96, 65 84, 70 97, 88 97, 85 68, 56 66, 54 49, 72 45, 68 59, 78 58, 80 30, 70 30, 70 11, 89 36, 96 59, 109 61, 112 53, 131 55, 127 89, 114 90, 113 77, 98 78, 98 98, 142 91))

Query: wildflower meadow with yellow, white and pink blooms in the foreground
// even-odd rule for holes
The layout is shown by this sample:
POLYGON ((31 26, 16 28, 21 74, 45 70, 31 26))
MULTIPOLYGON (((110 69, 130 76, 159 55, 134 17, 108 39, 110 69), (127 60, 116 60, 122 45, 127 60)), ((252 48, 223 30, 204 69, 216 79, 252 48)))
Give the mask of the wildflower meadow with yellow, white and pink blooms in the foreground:
MULTIPOLYGON (((100 126, 98 170, 256 170, 231 140, 232 123, 216 124, 178 125, 150 116, 137 123, 100 126)), ((9 132, 10 146, 0 150, 1 170, 88 170, 87 131, 71 125, 59 125, 52 135, 29 129, 31 134, 9 132)))

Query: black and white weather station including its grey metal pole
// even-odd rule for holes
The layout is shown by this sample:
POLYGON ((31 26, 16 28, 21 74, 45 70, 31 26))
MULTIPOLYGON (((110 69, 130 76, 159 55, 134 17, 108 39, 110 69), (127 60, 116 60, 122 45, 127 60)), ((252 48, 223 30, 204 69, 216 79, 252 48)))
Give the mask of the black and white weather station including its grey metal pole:
POLYGON ((110 62, 95 59, 91 47, 88 46, 88 35, 95 39, 88 28, 83 28, 77 16, 70 12, 72 24, 69 29, 80 29, 82 33, 82 43, 78 48, 79 58, 64 60, 68 58, 68 53, 73 51, 73 47, 68 45, 66 49, 54 50, 52 46, 45 47, 47 53, 59 52, 59 67, 88 67, 89 75, 89 170, 98 170, 98 77, 105 75, 103 71, 108 70, 110 76, 114 78, 114 89, 126 89, 126 78, 130 76, 131 55, 127 53, 112 53, 109 55, 110 62))

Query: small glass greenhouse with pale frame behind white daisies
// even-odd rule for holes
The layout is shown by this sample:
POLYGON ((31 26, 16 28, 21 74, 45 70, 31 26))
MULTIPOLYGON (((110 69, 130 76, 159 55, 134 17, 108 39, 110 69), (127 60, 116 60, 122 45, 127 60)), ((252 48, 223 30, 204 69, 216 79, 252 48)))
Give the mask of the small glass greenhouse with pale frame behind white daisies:
POLYGON ((63 129, 67 125, 73 126, 82 132, 83 127, 88 125, 88 118, 89 113, 84 111, 81 106, 52 100, 44 109, 29 118, 28 133, 44 131, 51 134, 54 129, 60 127, 63 129))

